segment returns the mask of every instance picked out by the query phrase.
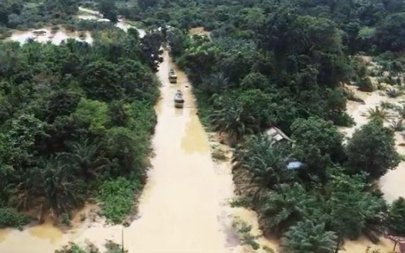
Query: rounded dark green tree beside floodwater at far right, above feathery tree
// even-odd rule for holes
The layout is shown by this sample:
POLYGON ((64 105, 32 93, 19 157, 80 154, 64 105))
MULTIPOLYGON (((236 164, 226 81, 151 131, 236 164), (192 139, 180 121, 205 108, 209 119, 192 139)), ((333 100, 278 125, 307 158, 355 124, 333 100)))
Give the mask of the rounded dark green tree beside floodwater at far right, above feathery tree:
POLYGON ((348 166, 355 173, 367 172, 378 179, 398 166, 394 133, 383 122, 372 119, 353 134, 347 145, 348 166))

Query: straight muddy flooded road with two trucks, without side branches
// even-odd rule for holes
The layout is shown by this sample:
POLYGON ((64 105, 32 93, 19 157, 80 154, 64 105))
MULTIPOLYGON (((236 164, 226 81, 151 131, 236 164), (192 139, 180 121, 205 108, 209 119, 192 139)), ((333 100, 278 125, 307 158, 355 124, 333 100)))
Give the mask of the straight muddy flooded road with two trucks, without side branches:
POLYGON ((221 203, 232 196, 232 188, 226 189, 232 179, 228 175, 224 183, 215 171, 186 75, 167 52, 164 59, 153 169, 140 199, 141 218, 125 230, 125 245, 130 252, 227 252, 220 216, 221 203), (170 68, 177 72, 177 84, 169 83, 170 68), (184 94, 184 108, 174 107, 177 90, 184 94))

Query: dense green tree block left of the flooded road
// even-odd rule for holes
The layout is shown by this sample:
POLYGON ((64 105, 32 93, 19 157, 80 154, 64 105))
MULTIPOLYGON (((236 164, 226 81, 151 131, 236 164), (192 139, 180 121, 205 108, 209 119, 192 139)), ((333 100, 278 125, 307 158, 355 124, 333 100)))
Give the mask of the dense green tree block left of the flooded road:
POLYGON ((59 217, 89 197, 112 222, 133 212, 155 124, 149 55, 158 48, 134 29, 93 36, 92 46, 0 43, 2 214, 41 206, 59 217))

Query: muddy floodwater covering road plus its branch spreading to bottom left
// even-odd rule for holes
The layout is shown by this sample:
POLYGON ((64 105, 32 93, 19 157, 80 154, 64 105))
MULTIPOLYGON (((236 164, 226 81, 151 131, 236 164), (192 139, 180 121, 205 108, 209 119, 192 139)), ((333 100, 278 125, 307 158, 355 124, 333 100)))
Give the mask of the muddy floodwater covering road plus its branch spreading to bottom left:
MULTIPOLYGON (((254 223, 255 234, 260 235, 257 216, 229 206, 233 197, 230 159, 213 161, 211 145, 215 140, 209 139, 198 119, 186 75, 175 67, 167 52, 157 75, 162 86, 155 106, 153 166, 139 200, 139 219, 126 228, 105 225, 94 211, 85 208, 83 214, 75 216, 70 230, 62 231, 50 221, 23 231, 0 230, 0 252, 47 253, 68 241, 83 244, 86 240, 102 247, 107 239, 121 243, 123 233, 129 252, 253 252, 239 245, 232 221, 238 217, 254 223), (168 81, 170 68, 177 70, 177 84, 168 81), (182 109, 174 107, 178 89, 184 94, 182 109), (84 222, 79 221, 82 215, 87 218, 84 222)), ((262 242, 275 245, 259 238, 262 242)))

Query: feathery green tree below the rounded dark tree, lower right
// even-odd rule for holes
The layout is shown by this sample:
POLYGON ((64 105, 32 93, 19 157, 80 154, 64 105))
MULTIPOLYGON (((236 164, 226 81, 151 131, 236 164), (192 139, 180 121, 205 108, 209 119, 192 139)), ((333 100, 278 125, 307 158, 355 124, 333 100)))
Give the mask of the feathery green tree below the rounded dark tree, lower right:
POLYGON ((364 175, 349 176, 339 168, 331 172, 332 180, 325 186, 326 200, 320 219, 335 231, 338 241, 356 239, 361 233, 376 241, 383 226, 387 206, 380 196, 367 192, 370 185, 364 175))

